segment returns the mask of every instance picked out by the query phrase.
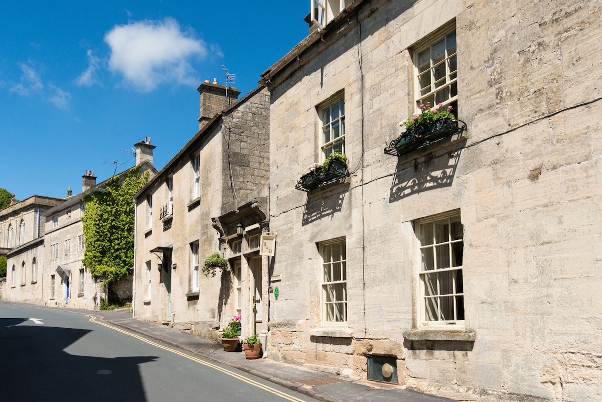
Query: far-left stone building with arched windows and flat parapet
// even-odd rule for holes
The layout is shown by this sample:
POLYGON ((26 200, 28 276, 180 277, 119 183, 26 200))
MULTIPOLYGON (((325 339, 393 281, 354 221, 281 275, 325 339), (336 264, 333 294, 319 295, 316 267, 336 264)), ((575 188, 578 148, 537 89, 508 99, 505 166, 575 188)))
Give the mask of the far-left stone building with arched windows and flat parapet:
POLYGON ((43 213, 62 202, 31 196, 0 210, 0 255, 7 257, 7 282, 1 296, 5 300, 42 300, 38 274, 43 267, 43 213))

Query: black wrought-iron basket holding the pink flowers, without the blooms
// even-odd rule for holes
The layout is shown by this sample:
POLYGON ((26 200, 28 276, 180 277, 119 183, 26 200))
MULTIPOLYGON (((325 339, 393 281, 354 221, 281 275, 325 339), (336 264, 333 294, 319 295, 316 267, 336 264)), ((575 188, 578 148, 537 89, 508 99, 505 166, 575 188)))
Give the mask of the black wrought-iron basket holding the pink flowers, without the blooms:
POLYGON ((400 156, 443 138, 466 131, 466 123, 458 119, 439 119, 435 123, 421 125, 406 131, 385 148, 386 155, 400 156))

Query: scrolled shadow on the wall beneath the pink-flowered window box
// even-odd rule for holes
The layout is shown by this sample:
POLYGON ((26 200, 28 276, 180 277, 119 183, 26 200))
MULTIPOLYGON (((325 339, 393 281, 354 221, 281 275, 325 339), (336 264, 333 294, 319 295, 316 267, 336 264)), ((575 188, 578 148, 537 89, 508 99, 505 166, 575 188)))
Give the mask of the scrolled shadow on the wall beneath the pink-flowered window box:
POLYGON ((450 187, 458 169, 460 150, 433 157, 426 155, 421 162, 414 160, 414 165, 407 161, 397 162, 389 202, 395 202, 412 194, 435 188, 450 187))

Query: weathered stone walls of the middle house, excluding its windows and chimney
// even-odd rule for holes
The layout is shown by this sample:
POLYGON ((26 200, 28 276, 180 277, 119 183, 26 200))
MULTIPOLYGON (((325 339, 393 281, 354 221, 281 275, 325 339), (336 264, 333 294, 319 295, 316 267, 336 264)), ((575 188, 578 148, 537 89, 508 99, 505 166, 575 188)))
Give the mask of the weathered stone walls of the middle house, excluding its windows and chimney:
MULTIPOLYGON (((238 208, 253 196, 267 194, 268 169, 267 90, 253 92, 226 111, 223 123, 204 128, 185 147, 178 159, 155 179, 137 199, 135 316, 152 321, 167 317, 166 270, 157 270, 160 260, 149 253, 158 246, 173 246, 171 312, 173 326, 205 338, 217 339, 220 322, 234 315, 232 277, 205 277, 200 273, 199 291, 193 292, 191 244, 199 241, 199 264, 214 252, 224 253, 220 233, 212 218, 238 208), (191 161, 200 153, 200 199, 193 200, 194 172, 191 161), (231 171, 232 169, 232 175, 231 171), (165 178, 173 177, 173 218, 163 224, 159 210, 167 205, 165 178), (234 192, 232 191, 234 184, 234 192), (147 224, 146 196, 153 197, 153 223, 147 224), (222 249, 220 249, 222 247, 222 249), (151 265, 151 297, 148 295, 147 262, 151 265), (187 296, 188 294, 188 296, 187 296)), ((226 253, 226 257, 229 257, 226 253)), ((249 283, 249 279, 246 279, 249 283)))

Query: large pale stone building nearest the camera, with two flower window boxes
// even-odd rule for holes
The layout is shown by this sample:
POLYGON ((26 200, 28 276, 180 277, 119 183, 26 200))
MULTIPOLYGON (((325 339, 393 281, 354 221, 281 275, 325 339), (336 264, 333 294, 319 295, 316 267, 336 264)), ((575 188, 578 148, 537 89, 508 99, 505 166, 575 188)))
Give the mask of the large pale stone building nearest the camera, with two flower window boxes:
POLYGON ((602 4, 314 4, 262 73, 267 356, 462 400, 602 400, 602 4), (459 120, 404 134, 426 102, 459 120), (335 151, 346 169, 302 178, 335 151))

